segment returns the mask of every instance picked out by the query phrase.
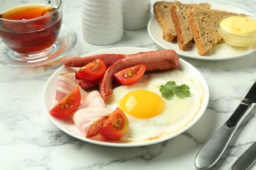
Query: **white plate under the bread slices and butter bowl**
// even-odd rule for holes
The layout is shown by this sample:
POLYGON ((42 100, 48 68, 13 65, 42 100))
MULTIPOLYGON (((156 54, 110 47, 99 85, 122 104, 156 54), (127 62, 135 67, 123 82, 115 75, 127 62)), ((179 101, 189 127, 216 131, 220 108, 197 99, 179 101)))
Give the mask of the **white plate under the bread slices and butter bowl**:
MULTIPOLYGON (((230 5, 220 5, 220 4, 213 3, 211 4, 211 9, 227 10, 230 12, 253 15, 245 10, 238 9, 236 7, 230 7, 230 5)), ((188 57, 188 58, 205 59, 205 60, 232 59, 232 58, 239 58, 242 56, 246 56, 247 54, 251 54, 256 50, 255 47, 254 48, 235 48, 235 47, 229 46, 226 43, 222 43, 215 46, 215 48, 211 50, 208 56, 200 56, 198 54, 198 50, 196 46, 192 46, 191 50, 182 51, 179 49, 178 42, 173 43, 173 42, 167 42, 163 40, 162 38, 163 31, 160 25, 158 24, 158 21, 156 20, 155 16, 153 16, 148 22, 148 33, 150 37, 153 39, 153 41, 155 41, 156 44, 161 46, 161 48, 175 50, 177 54, 188 57)))

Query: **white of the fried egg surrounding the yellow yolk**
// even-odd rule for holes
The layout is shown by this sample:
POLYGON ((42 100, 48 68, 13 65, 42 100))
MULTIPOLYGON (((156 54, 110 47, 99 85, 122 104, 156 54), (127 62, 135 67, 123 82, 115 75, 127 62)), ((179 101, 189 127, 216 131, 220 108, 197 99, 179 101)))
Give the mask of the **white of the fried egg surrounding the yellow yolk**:
POLYGON ((203 99, 203 88, 193 76, 186 75, 179 70, 147 73, 139 82, 129 86, 119 86, 106 100, 108 108, 114 110, 119 107, 119 101, 129 92, 135 90, 148 90, 159 95, 165 106, 163 111, 151 118, 136 118, 127 114, 129 131, 121 141, 148 141, 169 135, 186 126, 198 113, 203 99), (190 87, 190 97, 181 99, 175 95, 173 99, 166 100, 161 96, 160 87, 168 81, 175 81, 177 85, 186 84, 190 87))

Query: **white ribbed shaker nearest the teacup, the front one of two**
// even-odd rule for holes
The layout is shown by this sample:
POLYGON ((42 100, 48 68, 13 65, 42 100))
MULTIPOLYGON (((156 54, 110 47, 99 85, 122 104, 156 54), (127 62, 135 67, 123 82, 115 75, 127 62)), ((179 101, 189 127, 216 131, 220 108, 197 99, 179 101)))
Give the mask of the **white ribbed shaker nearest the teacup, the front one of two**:
POLYGON ((119 0, 83 0, 81 14, 83 39, 86 42, 107 45, 123 37, 123 15, 119 0))

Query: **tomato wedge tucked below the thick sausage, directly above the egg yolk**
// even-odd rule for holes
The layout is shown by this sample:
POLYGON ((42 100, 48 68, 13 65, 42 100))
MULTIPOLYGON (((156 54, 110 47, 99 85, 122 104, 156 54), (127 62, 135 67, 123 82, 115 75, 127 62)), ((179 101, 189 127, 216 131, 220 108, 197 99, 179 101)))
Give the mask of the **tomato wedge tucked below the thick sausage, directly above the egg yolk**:
POLYGON ((114 78, 121 84, 129 85, 139 81, 146 71, 146 65, 140 64, 114 73, 114 78))

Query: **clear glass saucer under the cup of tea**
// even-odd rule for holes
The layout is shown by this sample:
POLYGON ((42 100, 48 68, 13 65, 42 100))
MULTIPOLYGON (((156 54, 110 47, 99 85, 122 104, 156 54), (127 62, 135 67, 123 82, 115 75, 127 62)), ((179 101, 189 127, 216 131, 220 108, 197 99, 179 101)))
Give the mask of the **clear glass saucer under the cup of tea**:
POLYGON ((77 42, 75 31, 64 24, 60 29, 60 34, 51 46, 51 52, 43 58, 10 58, 8 54, 14 52, 5 45, 0 39, 0 64, 11 65, 14 67, 33 67, 37 65, 43 65, 45 63, 51 63, 57 59, 63 58, 68 52, 70 52, 77 42))

